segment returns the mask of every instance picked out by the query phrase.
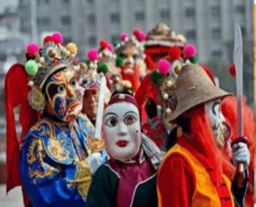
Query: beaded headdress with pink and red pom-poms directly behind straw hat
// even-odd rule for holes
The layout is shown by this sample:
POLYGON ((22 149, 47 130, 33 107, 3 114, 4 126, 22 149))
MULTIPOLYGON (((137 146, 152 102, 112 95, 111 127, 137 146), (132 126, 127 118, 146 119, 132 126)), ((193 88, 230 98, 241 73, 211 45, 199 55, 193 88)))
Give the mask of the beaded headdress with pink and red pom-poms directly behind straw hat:
POLYGON ((172 46, 169 49, 168 57, 160 59, 157 70, 153 70, 150 79, 157 85, 159 102, 163 111, 165 125, 171 127, 168 118, 177 106, 177 86, 178 74, 184 64, 194 64, 197 50, 195 46, 184 46, 184 50, 178 46, 172 46))

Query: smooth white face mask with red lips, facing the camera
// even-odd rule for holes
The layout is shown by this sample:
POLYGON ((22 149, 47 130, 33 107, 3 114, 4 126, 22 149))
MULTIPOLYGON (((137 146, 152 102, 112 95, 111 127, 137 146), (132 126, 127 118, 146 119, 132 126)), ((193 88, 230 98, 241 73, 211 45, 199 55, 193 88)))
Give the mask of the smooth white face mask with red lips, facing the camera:
POLYGON ((103 137, 110 157, 118 161, 134 158, 141 143, 138 108, 128 102, 107 107, 103 114, 103 137))

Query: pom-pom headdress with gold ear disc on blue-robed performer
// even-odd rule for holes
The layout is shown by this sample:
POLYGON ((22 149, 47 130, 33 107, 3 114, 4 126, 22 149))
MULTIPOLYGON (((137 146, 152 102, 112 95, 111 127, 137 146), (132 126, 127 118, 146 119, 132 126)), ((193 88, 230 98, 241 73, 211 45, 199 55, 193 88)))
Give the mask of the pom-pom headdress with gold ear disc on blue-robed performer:
POLYGON ((28 93, 28 102, 36 111, 45 107, 42 89, 47 78, 64 68, 73 70, 72 60, 77 54, 77 46, 74 43, 62 46, 62 43, 62 35, 53 33, 43 40, 41 48, 34 43, 27 47, 29 59, 25 70, 28 73, 28 85, 32 88, 28 93))

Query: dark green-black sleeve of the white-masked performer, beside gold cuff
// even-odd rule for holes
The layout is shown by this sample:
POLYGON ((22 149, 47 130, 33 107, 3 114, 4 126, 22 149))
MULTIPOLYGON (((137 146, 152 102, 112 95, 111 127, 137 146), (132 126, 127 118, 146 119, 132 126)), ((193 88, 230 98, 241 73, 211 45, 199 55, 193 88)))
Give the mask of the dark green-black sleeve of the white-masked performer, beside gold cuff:
POLYGON ((91 182, 86 207, 116 206, 117 184, 116 174, 105 165, 99 167, 91 182))

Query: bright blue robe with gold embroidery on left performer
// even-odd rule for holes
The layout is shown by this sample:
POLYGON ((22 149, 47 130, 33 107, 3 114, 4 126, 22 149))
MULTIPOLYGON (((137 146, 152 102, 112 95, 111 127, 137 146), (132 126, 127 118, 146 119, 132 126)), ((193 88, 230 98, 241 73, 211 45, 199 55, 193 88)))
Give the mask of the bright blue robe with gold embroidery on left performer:
POLYGON ((41 119, 23 139, 22 186, 36 207, 85 206, 91 184, 86 136, 93 126, 81 116, 69 125, 41 119))

